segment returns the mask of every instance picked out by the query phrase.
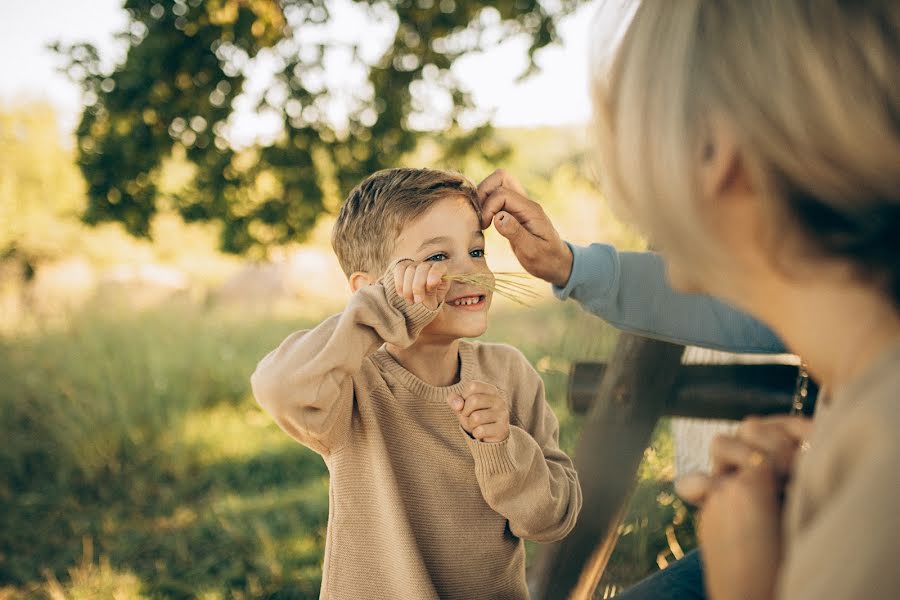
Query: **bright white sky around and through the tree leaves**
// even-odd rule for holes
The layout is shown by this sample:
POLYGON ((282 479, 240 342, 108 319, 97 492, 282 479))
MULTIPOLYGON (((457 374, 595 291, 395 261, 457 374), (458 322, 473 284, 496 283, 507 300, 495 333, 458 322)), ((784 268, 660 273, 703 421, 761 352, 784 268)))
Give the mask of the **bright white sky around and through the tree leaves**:
MULTIPOLYGON (((352 6, 348 0, 335 1, 352 6)), ((561 23, 562 43, 538 54, 542 71, 524 82, 516 82, 526 64, 526 44, 521 39, 461 59, 454 73, 471 90, 479 109, 494 111, 495 125, 585 122, 590 112, 588 26, 592 13, 593 7, 586 5, 561 23)), ((334 16, 345 35, 365 35, 366 24, 354 17, 352 9, 337 10, 334 16)), ((88 41, 112 67, 124 51, 114 36, 126 22, 121 0, 0 0, 0 102, 49 101, 59 112, 63 132, 71 132, 80 113, 81 94, 56 71, 58 60, 46 46, 54 41, 88 41)), ((252 79, 249 93, 265 93, 265 74, 252 79)), ((265 115, 255 114, 250 108, 254 104, 245 98, 236 106, 231 137, 239 145, 251 143, 253 136, 268 137, 266 132, 278 126, 265 115)))

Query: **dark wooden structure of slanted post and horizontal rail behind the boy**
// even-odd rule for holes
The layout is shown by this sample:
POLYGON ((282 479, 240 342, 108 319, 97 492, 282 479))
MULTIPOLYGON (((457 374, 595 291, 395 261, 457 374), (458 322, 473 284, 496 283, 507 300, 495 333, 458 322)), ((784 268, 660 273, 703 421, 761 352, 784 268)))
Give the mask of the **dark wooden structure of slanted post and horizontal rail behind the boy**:
MULTIPOLYGON (((684 350, 623 333, 608 363, 573 365, 569 406, 586 415, 575 451, 584 508, 568 537, 541 547, 529 571, 535 598, 592 597, 661 417, 739 420, 791 412, 797 366, 683 365, 684 350)), ((804 412, 811 414, 816 393, 810 383, 804 412)))

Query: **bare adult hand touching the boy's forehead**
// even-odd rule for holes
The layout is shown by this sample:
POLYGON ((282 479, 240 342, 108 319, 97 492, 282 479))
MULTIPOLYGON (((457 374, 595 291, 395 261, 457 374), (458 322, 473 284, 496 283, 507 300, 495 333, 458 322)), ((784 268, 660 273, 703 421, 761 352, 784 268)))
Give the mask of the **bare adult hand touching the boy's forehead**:
POLYGON ((493 222, 526 271, 559 287, 566 285, 572 273, 572 251, 519 182, 498 169, 478 185, 478 199, 482 227, 493 222))

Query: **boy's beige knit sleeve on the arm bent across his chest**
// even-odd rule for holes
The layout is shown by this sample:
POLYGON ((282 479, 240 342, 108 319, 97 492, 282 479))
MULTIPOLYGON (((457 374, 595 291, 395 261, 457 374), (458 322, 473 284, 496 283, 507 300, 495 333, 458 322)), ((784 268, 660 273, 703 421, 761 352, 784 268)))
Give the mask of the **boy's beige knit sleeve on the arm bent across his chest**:
POLYGON ((544 383, 524 356, 509 369, 509 437, 484 443, 467 436, 481 493, 517 536, 536 542, 565 537, 581 510, 572 460, 559 447, 559 422, 544 383))

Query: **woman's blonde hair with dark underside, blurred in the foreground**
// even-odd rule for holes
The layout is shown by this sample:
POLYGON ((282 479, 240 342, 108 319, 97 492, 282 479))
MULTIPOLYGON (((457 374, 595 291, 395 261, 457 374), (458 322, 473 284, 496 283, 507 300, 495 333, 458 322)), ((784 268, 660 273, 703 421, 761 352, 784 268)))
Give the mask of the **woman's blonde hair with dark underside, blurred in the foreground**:
POLYGON ((900 307, 900 2, 651 0, 620 12, 632 14, 592 65, 610 200, 664 250, 709 265, 721 249, 698 174, 724 127, 779 222, 900 307))

